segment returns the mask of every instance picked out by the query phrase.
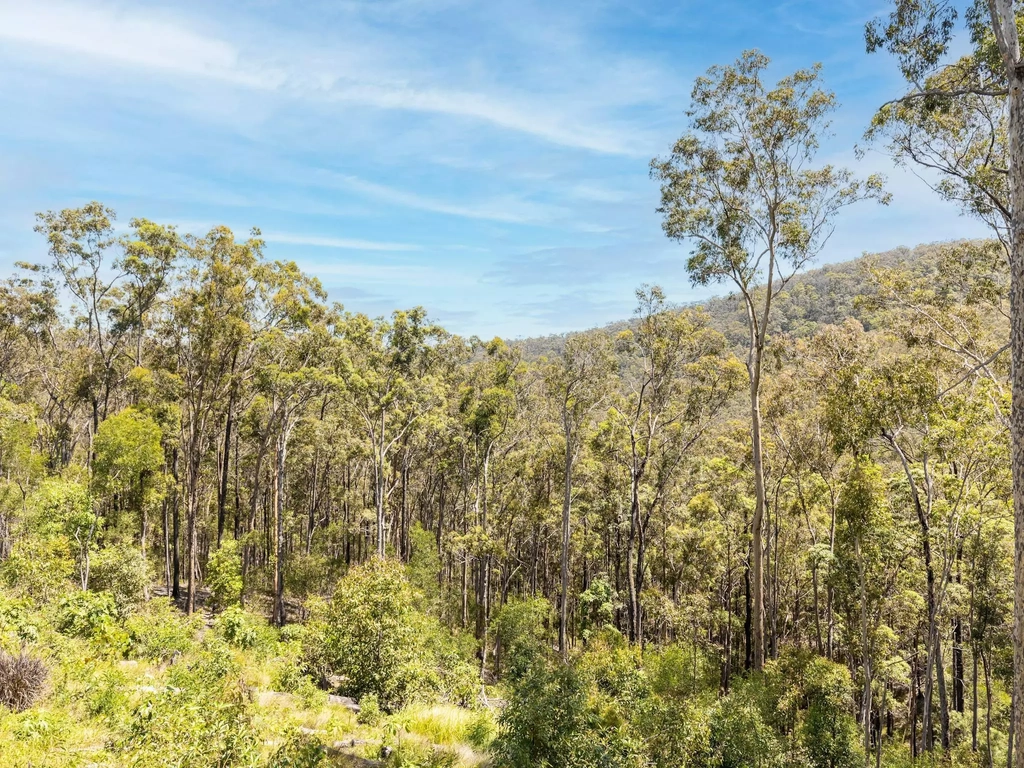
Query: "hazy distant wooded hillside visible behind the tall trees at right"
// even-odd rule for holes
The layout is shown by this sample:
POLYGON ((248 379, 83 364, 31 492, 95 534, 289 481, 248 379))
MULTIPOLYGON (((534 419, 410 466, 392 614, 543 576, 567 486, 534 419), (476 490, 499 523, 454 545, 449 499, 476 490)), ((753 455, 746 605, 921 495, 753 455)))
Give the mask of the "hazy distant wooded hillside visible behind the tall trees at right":
MULTIPOLYGON (((842 323, 847 317, 865 321, 855 306, 855 298, 866 293, 864 267, 868 261, 883 266, 902 264, 916 272, 933 270, 942 248, 950 243, 930 243, 914 248, 901 246, 891 251, 865 254, 850 261, 823 264, 798 274, 779 295, 772 309, 773 332, 808 336, 820 327, 842 323)), ((722 284, 722 288, 727 288, 722 284)), ((733 343, 745 339, 746 321, 735 294, 717 296, 702 302, 682 306, 702 306, 712 317, 712 325, 733 343)), ((602 327, 608 333, 629 328, 631 319, 615 321, 602 327)), ((552 334, 517 339, 527 358, 558 353, 568 334, 552 334)))

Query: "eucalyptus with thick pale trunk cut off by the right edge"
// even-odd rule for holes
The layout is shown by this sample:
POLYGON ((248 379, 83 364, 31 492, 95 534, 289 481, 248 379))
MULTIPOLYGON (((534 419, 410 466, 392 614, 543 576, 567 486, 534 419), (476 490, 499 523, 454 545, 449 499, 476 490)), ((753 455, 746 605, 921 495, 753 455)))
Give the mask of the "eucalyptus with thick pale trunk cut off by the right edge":
MULTIPOLYGON (((1014 730, 1024 732, 1024 57, 1014 0, 975 0, 971 47, 955 55, 959 8, 950 0, 894 0, 868 24, 868 51, 893 54, 907 91, 868 130, 899 162, 938 172, 938 194, 987 223, 1010 265, 1010 433, 1014 483, 1014 730)), ((1024 739, 1014 750, 1024 768, 1024 739)))

